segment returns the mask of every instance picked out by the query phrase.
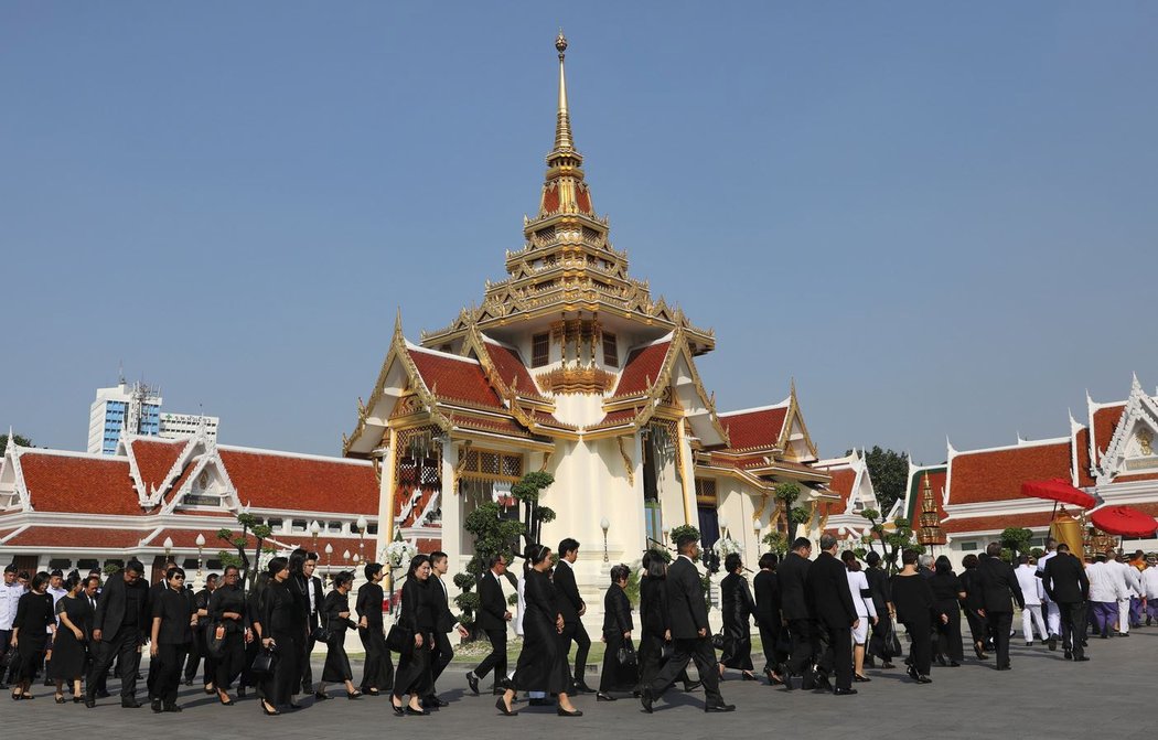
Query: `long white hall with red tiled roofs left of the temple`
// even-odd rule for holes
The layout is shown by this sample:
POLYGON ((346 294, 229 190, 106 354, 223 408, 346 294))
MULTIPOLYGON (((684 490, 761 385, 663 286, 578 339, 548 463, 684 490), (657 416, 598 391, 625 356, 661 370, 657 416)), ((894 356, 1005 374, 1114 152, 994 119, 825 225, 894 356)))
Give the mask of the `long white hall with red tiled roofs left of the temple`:
POLYGON ((192 577, 199 558, 205 572, 220 567, 218 552, 232 545, 218 530, 240 534, 235 519, 245 511, 273 528, 269 547, 329 545, 329 564, 350 567, 354 555, 374 557, 378 494, 369 462, 218 445, 204 427, 173 440, 124 437, 113 455, 9 441, 0 464, 0 561, 83 571, 130 557, 160 567, 171 554, 192 577), (356 526, 362 516, 365 537, 356 526))

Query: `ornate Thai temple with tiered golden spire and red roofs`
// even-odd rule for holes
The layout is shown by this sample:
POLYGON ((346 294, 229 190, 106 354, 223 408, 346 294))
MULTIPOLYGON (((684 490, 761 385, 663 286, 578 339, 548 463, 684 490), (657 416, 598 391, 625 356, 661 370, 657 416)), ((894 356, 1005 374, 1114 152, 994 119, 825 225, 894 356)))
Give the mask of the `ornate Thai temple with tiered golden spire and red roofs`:
MULTIPOLYGON (((589 588, 606 584, 607 562, 635 562, 686 523, 705 545, 727 537, 754 563, 760 540, 786 529, 772 496, 783 481, 802 490, 800 534, 848 519, 848 492, 830 483, 855 462, 818 464, 794 384, 778 403, 717 410, 696 368, 716 349, 713 332, 654 296, 611 244, 572 132, 566 46, 560 34, 538 208, 523 218, 521 247, 506 251, 506 277, 417 340, 400 315, 359 400, 343 452, 380 470, 379 548, 440 541, 461 569, 474 549, 466 518, 485 501, 516 516, 511 485, 536 470, 555 478, 542 503, 557 518, 541 538, 581 543, 577 573, 589 588)), ((863 461, 857 470, 866 481, 863 461)))

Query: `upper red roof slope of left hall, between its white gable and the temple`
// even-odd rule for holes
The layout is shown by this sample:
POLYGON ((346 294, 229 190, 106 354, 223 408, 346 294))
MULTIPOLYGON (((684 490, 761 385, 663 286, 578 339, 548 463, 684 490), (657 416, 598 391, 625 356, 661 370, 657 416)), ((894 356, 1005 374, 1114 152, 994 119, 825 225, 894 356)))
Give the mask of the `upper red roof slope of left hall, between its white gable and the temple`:
POLYGON ((376 514, 379 484, 369 464, 218 447, 237 499, 257 508, 376 514))

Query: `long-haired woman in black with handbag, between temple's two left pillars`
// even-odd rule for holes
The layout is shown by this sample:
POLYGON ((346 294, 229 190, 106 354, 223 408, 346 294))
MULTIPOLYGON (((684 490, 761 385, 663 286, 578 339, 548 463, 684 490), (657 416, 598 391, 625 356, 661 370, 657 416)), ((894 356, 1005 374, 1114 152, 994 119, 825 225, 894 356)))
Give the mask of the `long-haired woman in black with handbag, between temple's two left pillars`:
POLYGON ((431 649, 434 646, 434 609, 430 598, 431 559, 426 555, 410 558, 406 580, 402 584, 402 614, 398 624, 415 635, 415 644, 398 659, 398 673, 394 676, 394 693, 390 703, 394 713, 402 717, 412 715, 425 717, 423 697, 434 687, 431 673, 431 649), (402 708, 402 695, 410 695, 410 703, 402 708))

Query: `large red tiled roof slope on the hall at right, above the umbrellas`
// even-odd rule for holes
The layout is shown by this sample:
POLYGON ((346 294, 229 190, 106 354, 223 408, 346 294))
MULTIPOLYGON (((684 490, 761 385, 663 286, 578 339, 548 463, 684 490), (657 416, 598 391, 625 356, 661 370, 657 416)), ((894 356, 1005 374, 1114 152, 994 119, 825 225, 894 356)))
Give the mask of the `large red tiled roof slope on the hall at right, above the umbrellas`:
POLYGON ((950 504, 1021 500, 1026 481, 1069 479, 1070 442, 1023 445, 953 457, 950 504))

